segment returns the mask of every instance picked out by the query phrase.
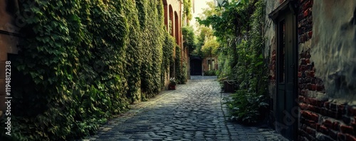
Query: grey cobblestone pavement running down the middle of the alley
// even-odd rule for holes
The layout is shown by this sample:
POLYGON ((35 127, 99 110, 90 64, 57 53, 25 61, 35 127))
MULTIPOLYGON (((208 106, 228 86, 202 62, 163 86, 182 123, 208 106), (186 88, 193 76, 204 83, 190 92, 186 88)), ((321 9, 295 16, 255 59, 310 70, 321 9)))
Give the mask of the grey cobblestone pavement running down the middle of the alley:
POLYGON ((86 140, 286 140, 268 128, 226 122, 216 77, 196 77, 100 127, 86 140))

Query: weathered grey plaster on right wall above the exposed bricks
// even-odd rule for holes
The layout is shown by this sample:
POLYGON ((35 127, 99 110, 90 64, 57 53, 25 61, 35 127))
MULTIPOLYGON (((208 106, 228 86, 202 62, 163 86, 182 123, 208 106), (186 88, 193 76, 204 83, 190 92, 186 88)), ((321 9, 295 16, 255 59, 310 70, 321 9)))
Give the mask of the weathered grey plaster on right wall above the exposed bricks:
POLYGON ((325 93, 356 104, 356 1, 318 1, 313 5, 310 61, 325 93))

